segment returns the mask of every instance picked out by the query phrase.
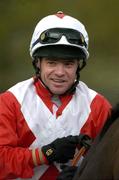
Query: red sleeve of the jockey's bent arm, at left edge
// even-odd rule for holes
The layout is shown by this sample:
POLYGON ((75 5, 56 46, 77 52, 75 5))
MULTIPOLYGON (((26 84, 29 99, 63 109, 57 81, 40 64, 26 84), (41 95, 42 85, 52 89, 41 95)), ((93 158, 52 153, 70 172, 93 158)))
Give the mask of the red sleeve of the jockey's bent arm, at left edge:
POLYGON ((14 99, 9 92, 0 95, 0 179, 33 176, 32 152, 18 145, 14 99))

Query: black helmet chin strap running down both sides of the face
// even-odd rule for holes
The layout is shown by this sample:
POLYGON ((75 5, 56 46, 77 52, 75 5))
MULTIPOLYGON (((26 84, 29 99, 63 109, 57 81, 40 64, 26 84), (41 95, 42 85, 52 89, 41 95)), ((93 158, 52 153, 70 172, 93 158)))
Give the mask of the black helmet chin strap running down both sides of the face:
MULTIPOLYGON (((42 84, 46 87, 46 89, 48 89, 48 91, 52 94, 52 92, 50 91, 50 89, 48 88, 48 86, 42 81, 41 76, 40 76, 40 68, 38 68, 36 66, 36 64, 38 63, 38 59, 35 59, 32 64, 35 68, 35 72, 36 72, 36 81, 38 81, 38 79, 42 82, 42 84)), ((80 80, 80 71, 86 66, 86 61, 83 60, 81 64, 79 64, 77 71, 76 71, 76 80, 74 82, 74 84, 72 84, 72 86, 64 93, 64 94, 73 94, 76 90, 76 86, 79 83, 80 80)), ((62 95, 64 95, 62 94, 62 95)))

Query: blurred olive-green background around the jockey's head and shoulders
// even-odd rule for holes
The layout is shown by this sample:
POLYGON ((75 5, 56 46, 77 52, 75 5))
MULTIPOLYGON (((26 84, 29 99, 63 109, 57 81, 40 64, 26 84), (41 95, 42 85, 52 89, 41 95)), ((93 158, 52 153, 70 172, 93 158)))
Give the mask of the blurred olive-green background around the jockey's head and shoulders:
POLYGON ((59 10, 82 21, 90 58, 81 80, 112 104, 119 97, 119 0, 0 0, 0 92, 34 74, 29 44, 37 22, 59 10))

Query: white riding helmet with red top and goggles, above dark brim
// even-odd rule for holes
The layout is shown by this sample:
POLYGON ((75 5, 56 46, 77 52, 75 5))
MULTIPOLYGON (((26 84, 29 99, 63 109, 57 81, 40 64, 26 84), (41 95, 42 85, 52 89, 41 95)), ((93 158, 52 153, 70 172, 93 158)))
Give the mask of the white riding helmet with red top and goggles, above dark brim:
POLYGON ((84 53, 84 59, 88 59, 88 41, 84 25, 60 11, 38 22, 30 43, 30 56, 34 59, 34 53, 42 47, 64 45, 78 48, 84 53))

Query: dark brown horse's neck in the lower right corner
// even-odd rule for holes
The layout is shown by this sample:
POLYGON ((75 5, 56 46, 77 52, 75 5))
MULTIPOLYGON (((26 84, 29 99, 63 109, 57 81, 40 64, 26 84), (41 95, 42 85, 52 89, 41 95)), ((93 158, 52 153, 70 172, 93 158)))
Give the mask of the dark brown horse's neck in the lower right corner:
POLYGON ((112 108, 73 180, 119 180, 119 104, 112 108))

